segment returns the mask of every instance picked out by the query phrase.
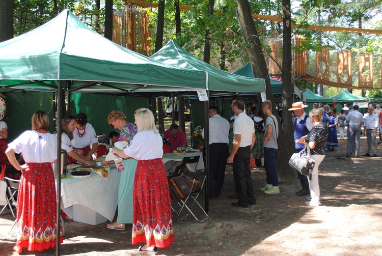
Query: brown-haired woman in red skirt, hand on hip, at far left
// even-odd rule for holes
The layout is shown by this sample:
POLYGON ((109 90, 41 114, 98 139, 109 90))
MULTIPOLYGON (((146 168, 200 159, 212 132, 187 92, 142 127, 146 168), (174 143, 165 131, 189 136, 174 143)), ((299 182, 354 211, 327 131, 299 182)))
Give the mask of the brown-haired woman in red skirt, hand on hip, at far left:
MULTIPOLYGON (((11 164, 22 170, 17 195, 18 253, 43 251, 56 246, 57 202, 52 163, 57 160, 57 137, 48 132, 49 118, 44 111, 32 116, 32 131, 23 132, 8 145, 6 154, 11 164), (22 153, 20 165, 15 153, 22 153)), ((63 242, 62 234, 60 243, 63 242)))

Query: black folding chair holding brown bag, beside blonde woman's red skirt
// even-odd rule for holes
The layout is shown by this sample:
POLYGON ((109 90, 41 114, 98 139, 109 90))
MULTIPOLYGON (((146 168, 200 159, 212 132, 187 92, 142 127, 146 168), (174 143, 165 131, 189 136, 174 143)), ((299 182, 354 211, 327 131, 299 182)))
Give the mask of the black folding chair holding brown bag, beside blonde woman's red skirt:
MULTIPOLYGON (((182 175, 184 175, 184 174, 182 174, 182 175)), ((197 191, 195 191, 195 192, 190 191, 186 197, 184 197, 180 201, 176 202, 179 205, 179 208, 177 210, 174 207, 171 207, 171 209, 176 213, 176 221, 183 220, 183 219, 187 218, 187 216, 189 214, 192 214, 197 221, 202 222, 202 221, 208 219, 208 214, 204 211, 203 207, 198 203, 198 197, 204 190, 204 183, 205 183, 206 178, 207 178, 207 168, 198 169, 195 171, 195 173, 187 172, 186 175, 187 175, 187 177, 191 177, 191 179, 193 179, 193 184, 191 187, 194 187, 194 184, 196 181, 201 182, 201 186, 197 191), (190 207, 187 206, 188 201, 192 201, 192 204, 190 207), (198 206, 200 208, 200 210, 202 210, 202 213, 205 215, 205 217, 203 219, 198 219, 196 217, 195 213, 193 212, 193 208, 195 205, 198 206), (180 218, 180 214, 182 213, 184 208, 188 210, 188 213, 185 216, 180 218)), ((197 210, 198 210, 198 208, 197 208, 197 210)))

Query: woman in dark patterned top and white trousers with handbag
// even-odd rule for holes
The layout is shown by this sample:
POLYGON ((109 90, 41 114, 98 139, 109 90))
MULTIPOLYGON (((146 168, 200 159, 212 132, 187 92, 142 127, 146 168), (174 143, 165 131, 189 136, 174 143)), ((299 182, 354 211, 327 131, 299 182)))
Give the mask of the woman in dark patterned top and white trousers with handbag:
MULTIPOLYGON (((328 140, 328 127, 321 122, 321 111, 313 108, 309 112, 309 117, 314 124, 303 145, 310 148, 311 158, 315 161, 312 171, 312 180, 308 179, 310 189, 310 201, 305 202, 306 205, 320 205, 320 187, 318 185, 318 167, 325 157, 325 145, 328 140)), ((300 142, 300 141, 299 141, 300 142)), ((309 197, 307 197, 309 199, 309 197)))

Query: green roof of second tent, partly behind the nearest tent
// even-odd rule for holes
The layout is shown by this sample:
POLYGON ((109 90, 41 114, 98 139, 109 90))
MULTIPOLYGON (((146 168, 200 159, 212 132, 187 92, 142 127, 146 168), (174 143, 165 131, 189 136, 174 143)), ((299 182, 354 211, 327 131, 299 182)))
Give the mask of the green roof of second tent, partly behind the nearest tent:
POLYGON ((188 53, 172 40, 150 58, 187 70, 205 71, 207 73, 209 91, 238 93, 265 92, 264 79, 242 77, 217 69, 188 53))

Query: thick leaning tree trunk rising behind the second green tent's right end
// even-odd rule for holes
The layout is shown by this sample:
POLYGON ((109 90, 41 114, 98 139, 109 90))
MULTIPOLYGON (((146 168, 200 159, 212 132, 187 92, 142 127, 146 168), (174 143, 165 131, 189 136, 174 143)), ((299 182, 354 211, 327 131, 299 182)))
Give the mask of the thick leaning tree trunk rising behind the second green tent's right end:
MULTIPOLYGON (((254 77, 265 79, 266 98, 270 100, 272 103, 273 115, 278 117, 275 100, 272 94, 272 88, 270 87, 268 69, 265 63, 265 58, 262 52, 262 47, 258 37, 258 33, 252 18, 251 7, 248 3, 248 0, 236 0, 236 2, 237 2, 236 15, 239 21, 240 31, 242 33, 245 44, 252 46, 251 48, 250 47, 247 48, 247 53, 250 58, 250 63, 252 66, 252 70, 254 72, 254 77)), ((288 95, 288 96, 291 97, 291 95, 288 95)), ((258 94, 258 99, 261 104, 262 100, 261 100, 260 94, 258 94)), ((295 172, 293 171, 292 168, 281 167, 281 166, 288 166, 288 160, 291 155, 291 152, 288 151, 288 148, 286 146, 285 139, 284 139, 285 136, 284 136, 283 130, 281 129, 280 120, 279 119, 277 120, 278 120, 279 131, 280 131, 278 136, 279 144, 280 144, 280 148, 282 149, 280 158, 277 159, 277 166, 279 166, 278 173, 279 173, 280 179, 284 179, 286 177, 291 177, 292 175, 295 176, 295 172), (284 150, 284 149, 287 149, 287 150, 284 150)), ((288 133, 288 131, 291 131, 291 127, 289 127, 289 129, 286 129, 285 134, 290 134, 290 136, 292 136, 291 134, 293 133, 291 132, 288 133)))

